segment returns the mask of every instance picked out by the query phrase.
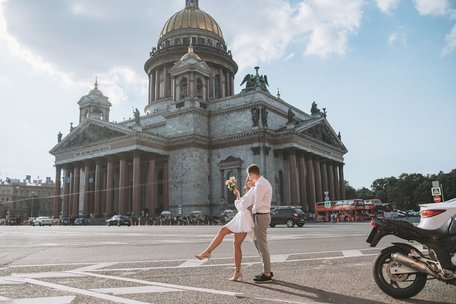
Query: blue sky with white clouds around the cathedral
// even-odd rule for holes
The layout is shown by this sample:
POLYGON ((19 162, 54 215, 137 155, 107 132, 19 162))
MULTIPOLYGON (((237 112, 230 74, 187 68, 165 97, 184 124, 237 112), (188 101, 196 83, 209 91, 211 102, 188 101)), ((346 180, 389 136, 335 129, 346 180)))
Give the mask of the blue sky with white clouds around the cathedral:
MULTIPOLYGON (((148 102, 144 63, 184 0, 0 0, 0 178, 55 177, 49 150, 98 88, 110 119, 148 102)), ((200 0, 243 75, 309 113, 348 149, 344 177, 456 168, 455 0, 200 0)))

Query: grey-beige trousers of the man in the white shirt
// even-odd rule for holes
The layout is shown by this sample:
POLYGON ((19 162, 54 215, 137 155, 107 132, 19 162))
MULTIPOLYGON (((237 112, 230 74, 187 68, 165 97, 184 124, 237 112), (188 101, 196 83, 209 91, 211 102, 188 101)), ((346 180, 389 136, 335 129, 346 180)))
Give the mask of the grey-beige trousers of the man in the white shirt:
POLYGON ((255 247, 260 254, 261 262, 263 263, 263 272, 271 272, 271 257, 268 250, 267 229, 271 223, 269 214, 255 214, 255 247))

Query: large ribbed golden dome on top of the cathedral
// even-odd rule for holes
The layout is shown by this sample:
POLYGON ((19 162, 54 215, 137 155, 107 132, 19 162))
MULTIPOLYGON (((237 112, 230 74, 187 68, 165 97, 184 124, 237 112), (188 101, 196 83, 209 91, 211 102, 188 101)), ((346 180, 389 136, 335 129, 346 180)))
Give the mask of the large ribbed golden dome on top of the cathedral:
POLYGON ((219 24, 209 14, 201 11, 198 6, 187 6, 180 12, 172 15, 166 21, 160 33, 160 38, 172 30, 182 28, 199 28, 212 31, 223 39, 219 24))

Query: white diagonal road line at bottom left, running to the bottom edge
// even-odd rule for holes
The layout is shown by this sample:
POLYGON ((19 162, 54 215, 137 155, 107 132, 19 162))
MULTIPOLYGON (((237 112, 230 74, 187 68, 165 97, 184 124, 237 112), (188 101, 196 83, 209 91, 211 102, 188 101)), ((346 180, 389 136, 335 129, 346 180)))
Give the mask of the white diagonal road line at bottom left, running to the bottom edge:
MULTIPOLYGON (((83 273, 83 272, 74 273, 74 274, 85 276, 85 273, 83 273)), ((123 297, 114 296, 114 295, 103 294, 103 293, 99 293, 99 292, 79 289, 79 288, 75 288, 75 287, 68 287, 68 286, 54 284, 54 283, 48 283, 48 282, 34 280, 34 279, 29 279, 29 278, 19 278, 18 277, 18 278, 11 278, 11 280, 15 280, 17 282, 29 283, 29 284, 33 284, 33 285, 45 286, 45 287, 54 288, 54 289, 63 290, 63 291, 68 291, 68 292, 79 293, 79 294, 88 295, 88 296, 92 296, 92 297, 96 297, 96 298, 100 298, 100 299, 105 299, 105 300, 110 300, 110 301, 114 301, 114 302, 118 302, 118 303, 124 303, 124 304, 149 304, 149 303, 146 303, 146 302, 130 300, 130 299, 126 299, 126 298, 123 298, 123 297)), ((30 302, 27 302, 27 303, 30 303, 30 302)))

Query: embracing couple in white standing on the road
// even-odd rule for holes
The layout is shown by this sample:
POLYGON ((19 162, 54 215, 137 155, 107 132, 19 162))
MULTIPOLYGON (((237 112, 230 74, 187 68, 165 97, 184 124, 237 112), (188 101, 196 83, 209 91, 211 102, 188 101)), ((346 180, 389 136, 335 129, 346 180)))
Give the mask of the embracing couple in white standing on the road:
POLYGON ((234 233, 234 276, 231 281, 241 278, 241 244, 245 237, 249 235, 254 241, 255 247, 260 254, 263 264, 263 273, 255 276, 255 283, 265 283, 272 281, 271 258, 267 243, 267 227, 271 222, 269 211, 271 209, 272 187, 269 181, 260 174, 257 165, 250 165, 247 170, 245 180, 244 195, 241 197, 238 189, 233 188, 233 193, 237 196, 234 201, 238 213, 233 219, 220 229, 219 233, 200 255, 195 255, 198 259, 211 258, 211 252, 222 243, 227 234, 234 233))

